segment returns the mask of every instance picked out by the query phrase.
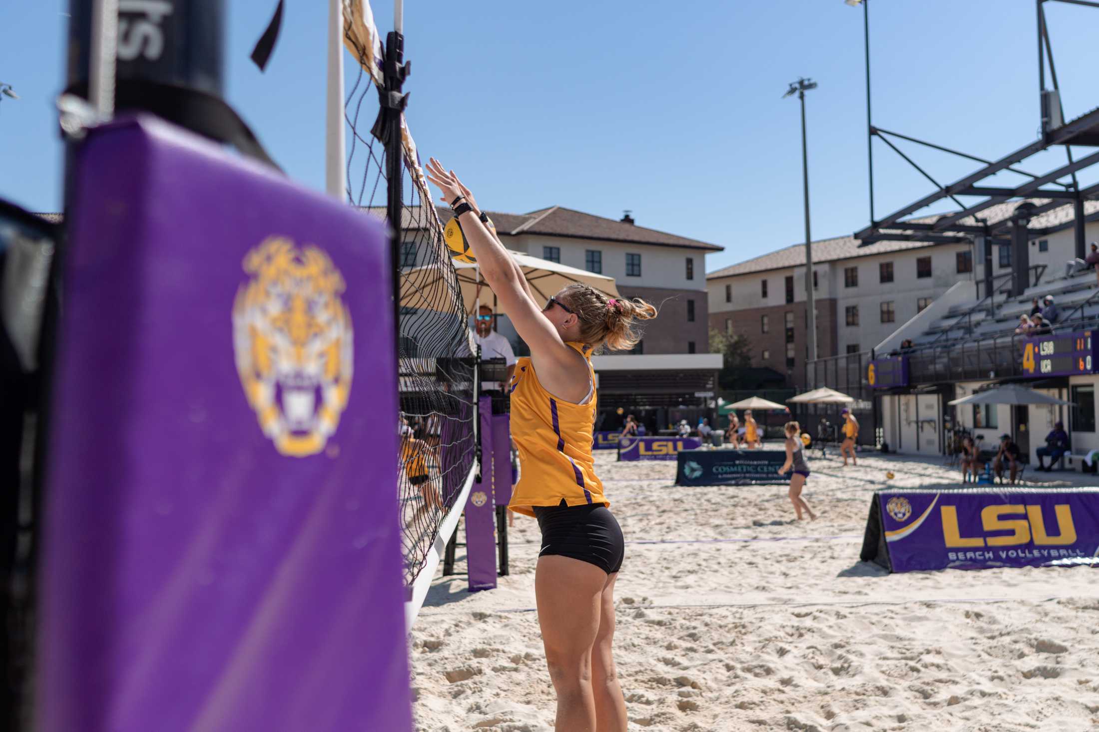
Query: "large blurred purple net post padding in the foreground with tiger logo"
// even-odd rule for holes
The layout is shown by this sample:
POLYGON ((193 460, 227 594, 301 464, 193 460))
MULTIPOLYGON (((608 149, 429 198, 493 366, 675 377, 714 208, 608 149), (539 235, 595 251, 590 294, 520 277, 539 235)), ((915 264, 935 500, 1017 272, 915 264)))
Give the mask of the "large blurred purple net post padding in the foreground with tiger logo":
POLYGON ((37 729, 412 729, 382 227, 148 116, 76 160, 37 729))

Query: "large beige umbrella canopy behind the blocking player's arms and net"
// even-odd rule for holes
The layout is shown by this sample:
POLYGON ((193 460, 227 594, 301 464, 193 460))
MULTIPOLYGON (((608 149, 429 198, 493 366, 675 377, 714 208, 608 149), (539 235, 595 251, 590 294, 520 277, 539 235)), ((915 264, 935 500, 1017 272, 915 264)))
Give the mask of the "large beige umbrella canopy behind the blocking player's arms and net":
MULTIPOLYGON (((510 249, 508 251, 519 263, 526 283, 531 285, 531 291, 540 301, 550 300, 560 292, 562 288, 577 282, 592 286, 610 297, 619 296, 612 277, 539 259, 521 251, 510 249)), ((445 309, 453 299, 451 291, 455 286, 455 274, 457 285, 462 288, 466 314, 471 315, 478 300, 490 297, 492 291, 480 277, 478 267, 465 262, 454 262, 453 270, 445 263, 437 263, 417 267, 402 273, 401 305, 421 309, 445 309)), ((498 314, 506 314, 499 304, 495 309, 498 314)))

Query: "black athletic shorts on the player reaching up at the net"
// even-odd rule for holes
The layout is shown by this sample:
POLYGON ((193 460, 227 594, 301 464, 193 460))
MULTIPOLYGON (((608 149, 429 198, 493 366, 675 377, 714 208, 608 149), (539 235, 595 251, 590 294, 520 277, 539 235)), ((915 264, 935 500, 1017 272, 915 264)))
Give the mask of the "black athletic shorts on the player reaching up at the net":
POLYGON ((535 506, 542 529, 539 556, 557 554, 595 564, 607 574, 622 568, 625 542, 614 515, 603 504, 535 506))

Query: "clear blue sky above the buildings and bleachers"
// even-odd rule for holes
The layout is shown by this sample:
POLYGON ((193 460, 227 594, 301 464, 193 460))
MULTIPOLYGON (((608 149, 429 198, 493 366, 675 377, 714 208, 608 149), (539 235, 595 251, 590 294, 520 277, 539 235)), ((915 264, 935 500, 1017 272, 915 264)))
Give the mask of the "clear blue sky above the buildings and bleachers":
MULTIPOLYGON (((1037 137, 1032 0, 870 2, 875 124, 988 158, 1037 137)), ((0 3, 0 81, 22 97, 0 102, 0 196, 35 211, 60 207, 53 99, 67 5, 0 3)), ((287 0, 266 74, 248 53, 275 0, 226 5, 227 100, 293 178, 323 188, 326 3, 287 0)), ((1046 9, 1072 119, 1099 105, 1099 10, 1046 9)), ((374 10, 385 32, 392 5, 374 10)), ((714 270, 803 237, 798 104, 780 99, 799 76, 820 83, 807 100, 813 238, 866 223, 862 14, 842 0, 409 0, 409 122, 421 154, 487 209, 630 209, 639 225, 724 246, 708 257, 714 270)), ((903 149, 940 182, 976 166, 903 149)), ((879 217, 932 190, 879 142, 875 182, 879 217)))

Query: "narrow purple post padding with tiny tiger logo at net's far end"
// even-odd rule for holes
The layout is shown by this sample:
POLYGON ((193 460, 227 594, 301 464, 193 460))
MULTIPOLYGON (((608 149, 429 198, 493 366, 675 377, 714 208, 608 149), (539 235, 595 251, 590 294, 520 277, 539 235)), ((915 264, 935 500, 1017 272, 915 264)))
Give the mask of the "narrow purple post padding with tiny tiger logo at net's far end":
MULTIPOLYGON (((480 397, 480 482, 466 500, 466 564, 469 592, 496 588, 496 504, 492 502, 492 397, 480 397)), ((510 470, 509 470, 510 473, 510 470)))

